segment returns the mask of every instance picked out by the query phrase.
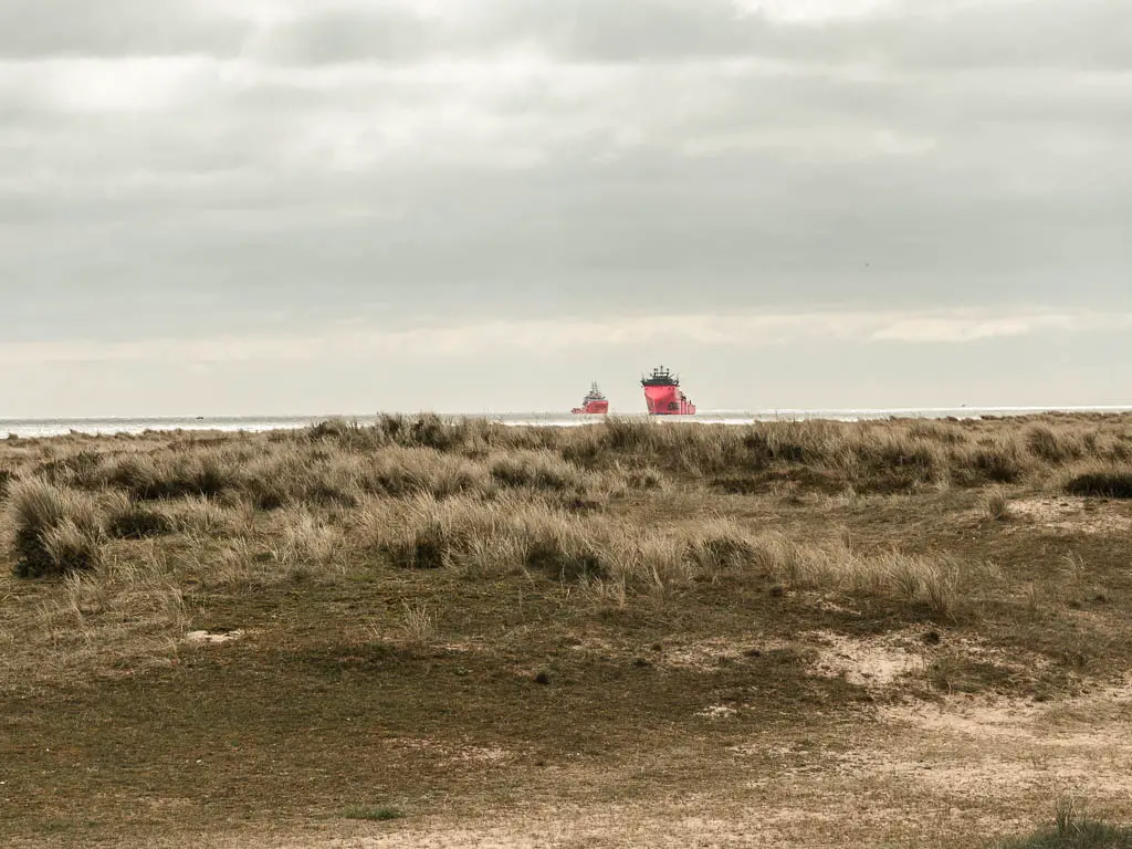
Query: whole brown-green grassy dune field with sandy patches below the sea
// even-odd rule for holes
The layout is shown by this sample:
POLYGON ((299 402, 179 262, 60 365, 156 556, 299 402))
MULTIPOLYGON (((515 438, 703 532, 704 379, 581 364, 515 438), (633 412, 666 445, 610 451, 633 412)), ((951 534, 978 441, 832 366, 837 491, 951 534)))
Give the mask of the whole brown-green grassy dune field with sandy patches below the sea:
POLYGON ((0 486, 5 846, 1129 844, 1132 417, 76 434, 0 486))

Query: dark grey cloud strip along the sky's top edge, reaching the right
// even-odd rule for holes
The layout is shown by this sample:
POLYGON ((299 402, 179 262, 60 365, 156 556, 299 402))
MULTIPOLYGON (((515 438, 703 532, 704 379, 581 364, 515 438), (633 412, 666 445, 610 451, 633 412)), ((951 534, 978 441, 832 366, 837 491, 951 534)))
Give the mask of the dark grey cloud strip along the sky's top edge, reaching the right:
POLYGON ((740 15, 731 0, 484 0, 427 15, 411 6, 315 11, 264 35, 291 62, 417 61, 535 48, 569 61, 780 58, 944 68, 1127 68, 1130 12, 1109 0, 895 2, 821 23, 740 15))

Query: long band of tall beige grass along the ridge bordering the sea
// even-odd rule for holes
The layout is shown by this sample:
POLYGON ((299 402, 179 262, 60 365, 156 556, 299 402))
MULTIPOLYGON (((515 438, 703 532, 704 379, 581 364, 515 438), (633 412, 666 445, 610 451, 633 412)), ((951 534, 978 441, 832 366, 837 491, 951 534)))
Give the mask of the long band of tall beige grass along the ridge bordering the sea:
MULTIPOLYGON (((783 479, 834 491, 909 492, 1020 483, 1132 462, 1129 417, 1003 421, 756 422, 672 427, 609 420, 509 428, 436 415, 378 424, 214 438, 84 439, 0 454, 7 474, 62 489, 119 489, 135 501, 248 500, 259 509, 352 507, 367 495, 437 498, 500 489, 621 497, 672 480, 783 479), (805 472, 805 473, 803 473, 805 472)), ((746 491, 737 488, 736 491, 746 491)))

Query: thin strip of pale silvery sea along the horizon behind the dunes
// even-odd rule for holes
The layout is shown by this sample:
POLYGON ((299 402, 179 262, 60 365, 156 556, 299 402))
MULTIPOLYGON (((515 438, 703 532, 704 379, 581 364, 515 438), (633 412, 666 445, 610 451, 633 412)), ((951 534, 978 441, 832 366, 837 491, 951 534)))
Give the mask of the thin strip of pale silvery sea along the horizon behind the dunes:
MULTIPOLYGON (((885 410, 709 410, 694 417, 661 418, 664 424, 748 424, 753 421, 801 421, 831 419, 859 421, 866 419, 914 418, 977 419, 984 415, 1027 415, 1040 412, 1132 412, 1132 406, 988 406, 954 409, 885 409, 885 410)), ((513 426, 577 427, 600 421, 601 415, 571 415, 569 413, 451 413, 445 418, 489 419, 513 426)), ((60 436, 72 431, 80 434, 142 434, 147 430, 294 430, 328 418, 343 418, 368 424, 376 415, 222 415, 206 418, 155 417, 138 419, 0 419, 0 438, 12 434, 19 437, 60 436)), ((623 415, 626 419, 648 419, 645 413, 623 415)))

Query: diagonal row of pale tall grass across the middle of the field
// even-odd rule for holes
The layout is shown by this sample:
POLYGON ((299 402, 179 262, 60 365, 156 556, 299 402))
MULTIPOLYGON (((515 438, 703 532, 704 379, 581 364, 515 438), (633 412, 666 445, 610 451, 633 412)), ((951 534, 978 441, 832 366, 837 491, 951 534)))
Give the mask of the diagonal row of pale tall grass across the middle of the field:
POLYGON ((861 555, 840 539, 803 543, 751 533, 722 518, 649 529, 547 504, 466 497, 383 507, 363 525, 361 535, 394 567, 474 576, 532 572, 591 590, 612 582, 623 594, 667 597, 693 581, 746 572, 804 591, 884 598, 951 616, 977 572, 940 557, 861 555))

